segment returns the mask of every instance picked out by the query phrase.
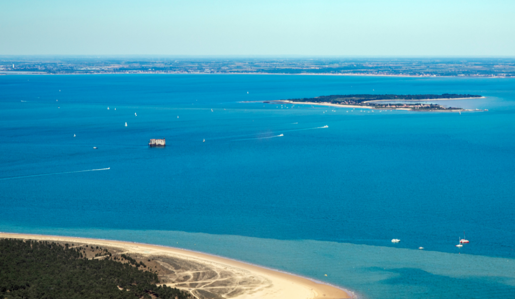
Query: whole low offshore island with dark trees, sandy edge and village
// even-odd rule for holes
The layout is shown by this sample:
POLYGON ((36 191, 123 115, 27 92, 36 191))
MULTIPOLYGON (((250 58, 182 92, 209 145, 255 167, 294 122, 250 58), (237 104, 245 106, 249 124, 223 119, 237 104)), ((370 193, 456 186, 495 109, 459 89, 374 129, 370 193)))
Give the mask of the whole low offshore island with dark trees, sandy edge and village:
POLYGON ((482 98, 480 95, 468 94, 442 94, 442 95, 332 95, 316 98, 288 99, 279 101, 267 101, 268 103, 298 103, 317 105, 341 105, 351 107, 366 107, 372 109, 405 109, 405 110, 442 110, 459 111, 465 110, 457 107, 444 107, 434 103, 423 103, 431 100, 455 100, 482 98), (402 103, 396 103, 396 101, 402 103), (413 103, 411 103, 413 102, 413 103))

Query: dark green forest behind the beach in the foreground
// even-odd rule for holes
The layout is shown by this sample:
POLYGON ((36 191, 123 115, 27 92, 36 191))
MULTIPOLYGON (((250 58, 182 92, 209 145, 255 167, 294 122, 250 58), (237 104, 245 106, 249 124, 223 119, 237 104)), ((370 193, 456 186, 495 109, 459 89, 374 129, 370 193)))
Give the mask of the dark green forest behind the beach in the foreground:
POLYGON ((87 259, 79 249, 54 242, 0 239, 0 298, 190 297, 176 288, 156 286, 157 274, 127 260, 87 259))

